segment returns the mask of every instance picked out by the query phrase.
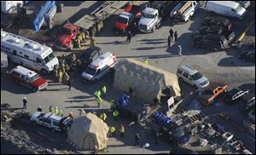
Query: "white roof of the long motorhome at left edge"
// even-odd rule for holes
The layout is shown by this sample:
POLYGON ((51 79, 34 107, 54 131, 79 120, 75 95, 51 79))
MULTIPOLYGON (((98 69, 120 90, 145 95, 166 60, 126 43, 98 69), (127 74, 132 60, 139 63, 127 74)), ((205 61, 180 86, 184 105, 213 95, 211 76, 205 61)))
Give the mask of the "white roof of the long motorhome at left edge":
POLYGON ((38 42, 32 41, 26 37, 20 37, 13 33, 4 32, 1 30, 1 44, 2 43, 38 55, 44 55, 44 53, 50 49, 49 47, 44 46, 43 44, 40 44, 38 42))

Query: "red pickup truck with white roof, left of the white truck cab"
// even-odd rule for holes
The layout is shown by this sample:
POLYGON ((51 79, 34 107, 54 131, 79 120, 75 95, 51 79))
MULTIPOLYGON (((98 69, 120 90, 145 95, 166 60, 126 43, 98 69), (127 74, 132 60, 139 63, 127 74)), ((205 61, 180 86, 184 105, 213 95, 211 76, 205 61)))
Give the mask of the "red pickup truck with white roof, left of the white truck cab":
POLYGON ((141 8, 137 5, 129 5, 122 14, 119 14, 117 20, 114 23, 114 32, 127 32, 131 26, 135 26, 137 21, 142 16, 141 8))

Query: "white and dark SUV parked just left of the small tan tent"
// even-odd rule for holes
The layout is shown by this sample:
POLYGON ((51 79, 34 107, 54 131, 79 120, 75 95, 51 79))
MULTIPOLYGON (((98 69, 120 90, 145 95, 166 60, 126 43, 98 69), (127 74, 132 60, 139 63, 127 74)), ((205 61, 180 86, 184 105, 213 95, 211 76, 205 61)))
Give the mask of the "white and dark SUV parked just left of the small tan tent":
POLYGON ((30 120, 32 123, 43 125, 53 132, 55 130, 67 131, 70 129, 71 123, 73 123, 71 118, 56 116, 55 113, 52 112, 35 112, 32 114, 30 120))

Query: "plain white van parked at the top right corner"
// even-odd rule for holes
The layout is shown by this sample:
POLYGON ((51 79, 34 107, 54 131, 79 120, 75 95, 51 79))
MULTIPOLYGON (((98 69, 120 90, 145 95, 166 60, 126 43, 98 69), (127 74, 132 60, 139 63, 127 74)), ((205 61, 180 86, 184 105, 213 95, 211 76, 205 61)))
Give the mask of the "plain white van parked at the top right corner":
POLYGON ((241 20, 246 13, 246 9, 242 8, 239 3, 232 1, 208 1, 206 9, 238 20, 241 20))

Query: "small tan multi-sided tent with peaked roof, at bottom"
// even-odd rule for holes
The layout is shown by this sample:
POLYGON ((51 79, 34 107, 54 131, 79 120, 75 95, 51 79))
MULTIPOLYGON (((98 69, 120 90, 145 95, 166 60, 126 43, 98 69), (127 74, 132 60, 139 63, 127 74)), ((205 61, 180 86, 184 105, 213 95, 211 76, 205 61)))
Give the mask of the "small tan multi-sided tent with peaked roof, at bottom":
POLYGON ((99 150, 107 147, 108 125, 95 114, 87 113, 85 116, 75 118, 68 130, 68 139, 78 146, 80 150, 99 150))

